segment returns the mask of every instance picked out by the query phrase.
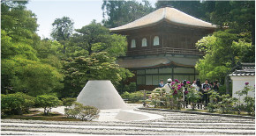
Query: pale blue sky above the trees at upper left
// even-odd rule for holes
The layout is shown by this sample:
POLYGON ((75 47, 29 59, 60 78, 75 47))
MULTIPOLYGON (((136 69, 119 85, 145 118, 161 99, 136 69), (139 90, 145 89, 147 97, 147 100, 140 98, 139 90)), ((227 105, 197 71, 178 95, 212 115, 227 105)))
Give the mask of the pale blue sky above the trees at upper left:
MULTIPOLYGON (((102 3, 102 0, 29 0, 26 9, 36 15, 37 33, 43 39, 50 38, 51 24, 56 18, 71 18, 75 29, 90 24, 93 19, 102 22, 102 3)), ((154 5, 154 0, 150 3, 154 5)))

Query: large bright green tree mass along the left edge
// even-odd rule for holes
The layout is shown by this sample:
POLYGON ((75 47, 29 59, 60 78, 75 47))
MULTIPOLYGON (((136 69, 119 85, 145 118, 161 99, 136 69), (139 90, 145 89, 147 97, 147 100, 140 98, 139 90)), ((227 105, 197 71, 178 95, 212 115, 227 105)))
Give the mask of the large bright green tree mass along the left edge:
POLYGON ((62 88, 63 77, 56 65, 41 60, 44 58, 37 49, 44 45, 38 45, 41 40, 36 34, 36 18, 25 4, 1 1, 1 90, 3 94, 25 92, 36 96, 62 88))

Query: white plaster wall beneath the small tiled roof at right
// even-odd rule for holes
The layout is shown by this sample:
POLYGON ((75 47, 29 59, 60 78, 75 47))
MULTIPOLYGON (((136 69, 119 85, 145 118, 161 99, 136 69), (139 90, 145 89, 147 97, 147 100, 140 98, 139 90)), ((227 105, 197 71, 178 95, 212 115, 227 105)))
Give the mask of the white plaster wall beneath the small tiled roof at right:
MULTIPOLYGON (((239 99, 239 96, 236 94, 238 90, 245 88, 245 82, 249 82, 249 85, 254 88, 255 85, 255 76, 230 76, 231 80, 233 81, 233 91, 232 91, 232 97, 237 97, 239 99)), ((248 93, 248 96, 255 97, 255 91, 250 91, 248 93)), ((241 101, 243 101, 244 97, 240 97, 241 101)))

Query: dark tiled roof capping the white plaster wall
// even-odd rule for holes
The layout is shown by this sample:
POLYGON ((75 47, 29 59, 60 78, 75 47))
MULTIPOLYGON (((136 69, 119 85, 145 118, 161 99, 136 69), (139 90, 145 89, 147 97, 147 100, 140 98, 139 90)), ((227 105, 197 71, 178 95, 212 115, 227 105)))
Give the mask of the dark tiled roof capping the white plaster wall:
POLYGON ((241 63, 230 76, 255 76, 255 63, 241 63))

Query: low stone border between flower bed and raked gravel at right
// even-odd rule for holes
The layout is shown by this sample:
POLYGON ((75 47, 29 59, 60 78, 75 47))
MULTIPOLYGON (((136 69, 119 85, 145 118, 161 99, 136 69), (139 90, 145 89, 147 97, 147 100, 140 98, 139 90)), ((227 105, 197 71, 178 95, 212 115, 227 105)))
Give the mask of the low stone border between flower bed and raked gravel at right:
POLYGON ((222 117, 230 117, 230 118, 250 118, 250 119, 255 119, 255 117, 252 117, 252 116, 242 116, 242 115, 232 115, 232 114, 218 114, 218 113, 199 112, 199 111, 179 111, 179 110, 168 110, 168 109, 157 109, 157 108, 138 108, 138 109, 139 110, 148 110, 148 111, 172 111, 172 112, 181 112, 181 113, 190 113, 190 114, 222 116, 222 117))

